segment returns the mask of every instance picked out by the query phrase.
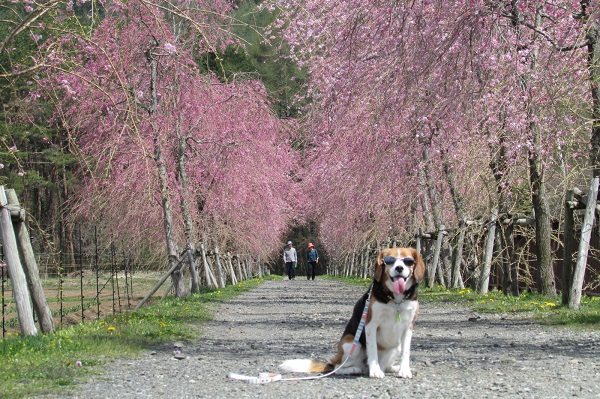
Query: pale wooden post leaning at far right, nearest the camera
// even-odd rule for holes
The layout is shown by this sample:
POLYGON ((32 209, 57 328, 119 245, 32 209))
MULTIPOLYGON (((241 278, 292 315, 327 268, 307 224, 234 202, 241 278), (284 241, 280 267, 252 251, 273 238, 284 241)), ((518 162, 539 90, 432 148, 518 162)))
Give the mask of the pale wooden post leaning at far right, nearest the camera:
POLYGON ((585 216, 581 226, 581 240, 579 241, 579 251, 577 252, 577 261, 573 270, 573 282, 571 284, 571 298, 569 308, 579 309, 581 303, 581 290, 583 289, 583 277, 587 265, 588 250, 590 247, 590 237, 594 228, 594 216, 596 213, 596 201, 598 199, 598 177, 594 177, 590 182, 590 190, 585 207, 585 216))

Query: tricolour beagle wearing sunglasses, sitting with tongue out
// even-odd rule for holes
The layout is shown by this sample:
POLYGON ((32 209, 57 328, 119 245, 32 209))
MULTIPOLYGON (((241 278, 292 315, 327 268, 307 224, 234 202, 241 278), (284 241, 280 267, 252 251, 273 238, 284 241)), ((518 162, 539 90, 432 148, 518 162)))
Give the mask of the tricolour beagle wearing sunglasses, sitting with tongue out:
POLYGON ((339 367, 336 374, 368 373, 371 378, 383 378, 385 373, 393 373, 412 378, 410 343, 419 310, 417 291, 424 274, 425 264, 416 249, 385 248, 375 261, 369 291, 354 305, 337 354, 328 363, 293 359, 279 367, 301 373, 328 373, 339 367), (364 331, 355 345, 369 293, 364 331), (400 364, 394 365, 398 356, 400 364))

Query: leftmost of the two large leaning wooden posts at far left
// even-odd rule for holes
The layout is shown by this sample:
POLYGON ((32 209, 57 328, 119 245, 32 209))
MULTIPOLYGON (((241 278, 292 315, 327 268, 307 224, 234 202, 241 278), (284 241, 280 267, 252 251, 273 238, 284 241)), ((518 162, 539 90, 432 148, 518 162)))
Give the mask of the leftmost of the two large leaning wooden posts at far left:
POLYGON ((8 205, 8 200, 4 192, 4 186, 0 186, 0 230, 2 245, 4 247, 4 257, 13 286, 17 317, 23 335, 37 335, 31 302, 29 300, 29 291, 27 290, 27 280, 23 272, 21 259, 19 258, 17 238, 15 237, 10 212, 6 208, 6 205, 8 205))

